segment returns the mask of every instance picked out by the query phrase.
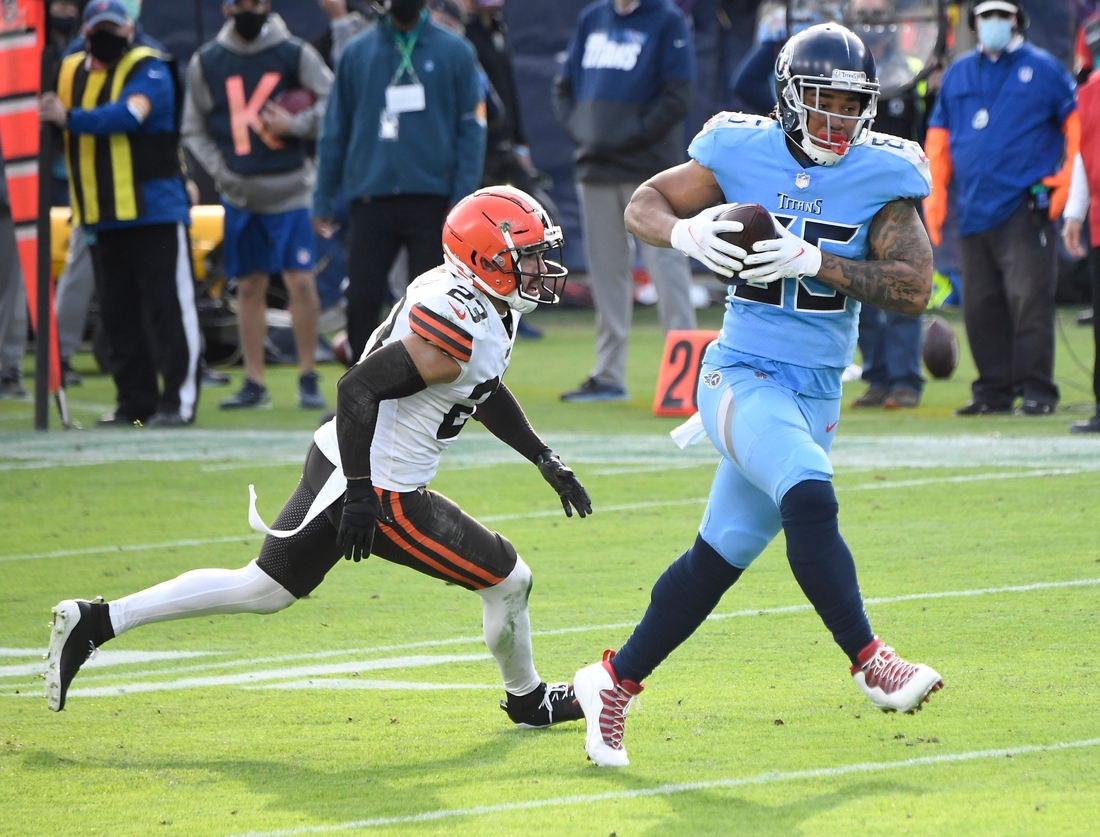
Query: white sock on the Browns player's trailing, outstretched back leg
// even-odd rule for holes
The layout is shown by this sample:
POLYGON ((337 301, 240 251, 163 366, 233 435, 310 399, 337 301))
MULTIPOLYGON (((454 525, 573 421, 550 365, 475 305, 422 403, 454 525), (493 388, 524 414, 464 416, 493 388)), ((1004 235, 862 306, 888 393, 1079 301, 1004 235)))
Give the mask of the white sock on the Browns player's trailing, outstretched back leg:
POLYGON ((252 561, 240 570, 193 570, 109 603, 114 636, 169 619, 210 614, 273 614, 297 599, 252 561))

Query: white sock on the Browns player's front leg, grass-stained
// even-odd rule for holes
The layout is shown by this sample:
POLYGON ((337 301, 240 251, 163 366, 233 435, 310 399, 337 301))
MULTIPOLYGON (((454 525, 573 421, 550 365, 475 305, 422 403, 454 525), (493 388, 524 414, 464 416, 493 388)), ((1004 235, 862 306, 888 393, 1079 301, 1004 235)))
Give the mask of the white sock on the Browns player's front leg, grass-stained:
POLYGON ((496 659, 504 687, 514 695, 538 689, 538 672, 531 653, 531 618, 527 596, 531 592, 531 571, 522 559, 499 584, 477 591, 482 597, 482 630, 485 645, 496 659))

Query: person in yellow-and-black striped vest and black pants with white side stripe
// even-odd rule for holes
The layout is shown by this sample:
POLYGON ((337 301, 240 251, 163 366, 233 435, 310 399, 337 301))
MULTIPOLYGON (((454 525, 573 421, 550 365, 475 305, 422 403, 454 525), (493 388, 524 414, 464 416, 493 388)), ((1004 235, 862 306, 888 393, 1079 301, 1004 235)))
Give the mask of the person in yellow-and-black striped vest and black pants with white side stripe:
POLYGON ((99 426, 195 420, 199 327, 172 58, 134 46, 119 0, 84 12, 85 49, 62 63, 38 106, 65 131, 73 223, 91 245, 118 408, 99 426), (164 379, 157 392, 157 372, 164 379))

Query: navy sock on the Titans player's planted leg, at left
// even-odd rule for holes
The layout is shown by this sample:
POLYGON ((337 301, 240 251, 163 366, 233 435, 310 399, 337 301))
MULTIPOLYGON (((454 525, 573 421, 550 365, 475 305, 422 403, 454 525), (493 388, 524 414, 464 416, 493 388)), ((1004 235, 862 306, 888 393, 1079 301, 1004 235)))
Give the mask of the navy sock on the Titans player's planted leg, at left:
POLYGON ((740 577, 701 537, 653 585, 649 607, 612 660, 619 680, 640 683, 711 615, 740 577))

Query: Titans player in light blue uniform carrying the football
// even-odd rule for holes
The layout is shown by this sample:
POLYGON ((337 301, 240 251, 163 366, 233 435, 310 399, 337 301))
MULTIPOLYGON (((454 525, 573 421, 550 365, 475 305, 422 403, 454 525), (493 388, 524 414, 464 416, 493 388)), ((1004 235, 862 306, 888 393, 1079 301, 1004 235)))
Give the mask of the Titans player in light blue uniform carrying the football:
POLYGON ((860 301, 916 316, 928 300, 932 246, 915 206, 928 194, 927 161, 915 143, 871 132, 875 58, 843 26, 792 37, 776 93, 773 118, 711 119, 692 159, 642 184, 626 210, 635 235, 697 258, 732 287, 703 363, 698 417, 678 431, 685 440, 705 430, 723 454, 698 537, 658 579, 619 651, 574 678, 585 749, 601 767, 628 763, 624 722, 642 679, 780 529, 799 585, 875 706, 912 712, 943 685, 871 631, 828 460, 860 301), (743 231, 718 220, 738 202, 769 210, 778 238, 749 251, 718 238, 743 231))

